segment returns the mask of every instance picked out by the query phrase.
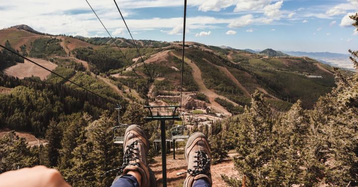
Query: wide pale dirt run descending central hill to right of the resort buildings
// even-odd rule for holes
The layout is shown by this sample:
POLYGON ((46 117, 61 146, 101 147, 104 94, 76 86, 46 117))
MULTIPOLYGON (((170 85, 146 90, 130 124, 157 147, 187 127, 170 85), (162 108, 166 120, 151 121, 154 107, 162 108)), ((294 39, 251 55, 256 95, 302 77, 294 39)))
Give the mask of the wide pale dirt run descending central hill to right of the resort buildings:
MULTIPOLYGON (((175 55, 174 53, 173 53, 173 55, 176 56, 177 58, 181 59, 181 57, 175 55)), ((226 97, 224 97, 224 96, 222 96, 222 95, 218 95, 218 94, 214 93, 213 91, 207 89, 206 86, 205 86, 205 84, 204 84, 204 82, 203 82, 203 80, 202 80, 202 78, 201 78, 201 71, 200 71, 199 67, 197 67, 195 63, 191 63, 191 60, 189 60, 189 59, 186 58, 186 57, 184 58, 184 62, 191 67, 191 69, 192 69, 191 74, 192 74, 192 76, 193 76, 193 78, 194 78, 194 81, 196 82, 196 84, 197 84, 198 87, 199 87, 199 92, 205 94, 205 95, 208 97, 209 101, 211 102, 211 104, 209 104, 209 106, 212 105, 212 106, 214 106, 219 112, 222 112, 222 113, 224 113, 225 115, 231 116, 231 113, 228 112, 228 111, 227 111, 223 106, 221 106, 219 103, 217 103, 217 102, 215 101, 215 98, 216 98, 216 97, 219 97, 219 98, 225 99, 225 100, 227 100, 227 101, 233 103, 235 106, 238 106, 238 104, 235 103, 235 102, 233 102, 233 101, 231 101, 231 100, 229 100, 228 98, 226 98, 226 97)))

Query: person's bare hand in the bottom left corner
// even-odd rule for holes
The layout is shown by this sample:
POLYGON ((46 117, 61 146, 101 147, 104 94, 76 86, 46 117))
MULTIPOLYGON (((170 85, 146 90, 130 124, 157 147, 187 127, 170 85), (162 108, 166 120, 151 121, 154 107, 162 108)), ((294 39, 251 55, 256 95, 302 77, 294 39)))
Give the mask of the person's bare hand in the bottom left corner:
POLYGON ((0 175, 0 187, 71 187, 60 172, 45 166, 9 171, 0 175))

